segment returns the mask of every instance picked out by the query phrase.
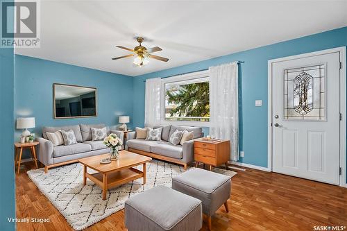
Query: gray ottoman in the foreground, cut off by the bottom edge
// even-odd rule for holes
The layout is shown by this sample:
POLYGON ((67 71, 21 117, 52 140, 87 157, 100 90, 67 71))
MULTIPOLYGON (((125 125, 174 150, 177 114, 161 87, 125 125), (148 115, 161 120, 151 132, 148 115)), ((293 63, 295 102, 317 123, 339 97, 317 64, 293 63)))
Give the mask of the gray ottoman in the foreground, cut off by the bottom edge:
POLYGON ((200 230, 203 226, 201 201, 157 186, 126 200, 125 223, 129 231, 200 230))

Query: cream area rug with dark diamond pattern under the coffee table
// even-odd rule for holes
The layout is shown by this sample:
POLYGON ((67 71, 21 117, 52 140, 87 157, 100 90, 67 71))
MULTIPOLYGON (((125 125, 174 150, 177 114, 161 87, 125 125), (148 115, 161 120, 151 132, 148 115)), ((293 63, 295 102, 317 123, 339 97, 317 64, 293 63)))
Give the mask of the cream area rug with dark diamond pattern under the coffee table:
MULTIPOLYGON (((137 167, 142 170, 142 166, 137 167)), ((92 172, 88 169, 88 172, 92 172)), ((105 219, 105 217, 124 208, 125 201, 146 189, 157 185, 171 187, 171 179, 183 173, 184 169, 176 164, 152 160, 147 164, 146 185, 142 178, 108 190, 106 200, 101 198, 101 188, 91 180, 83 187, 83 166, 79 163, 49 169, 28 171, 28 176, 49 198, 62 216, 74 230, 83 230, 88 226, 105 219)), ((214 172, 235 176, 234 171, 214 168, 214 172)))

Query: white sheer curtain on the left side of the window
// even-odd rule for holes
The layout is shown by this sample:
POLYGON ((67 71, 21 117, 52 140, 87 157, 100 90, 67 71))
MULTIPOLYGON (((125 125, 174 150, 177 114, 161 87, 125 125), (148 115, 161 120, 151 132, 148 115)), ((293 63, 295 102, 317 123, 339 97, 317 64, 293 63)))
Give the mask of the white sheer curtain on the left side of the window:
POLYGON ((144 125, 153 128, 160 123, 160 78, 146 80, 144 125))

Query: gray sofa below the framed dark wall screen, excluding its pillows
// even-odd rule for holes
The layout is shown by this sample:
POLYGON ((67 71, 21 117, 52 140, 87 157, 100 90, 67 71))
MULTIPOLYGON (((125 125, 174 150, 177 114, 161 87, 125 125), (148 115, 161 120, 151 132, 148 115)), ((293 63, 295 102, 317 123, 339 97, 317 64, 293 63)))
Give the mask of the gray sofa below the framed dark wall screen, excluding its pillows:
MULTIPOLYGON (((47 173, 49 168, 78 162, 78 159, 92 155, 101 155, 108 153, 110 149, 103 144, 103 141, 92 141, 92 131, 90 128, 107 127, 104 123, 98 124, 77 124, 61 127, 43 127, 42 137, 37 137, 40 142, 38 159, 44 164, 44 171, 47 173), (52 142, 47 139, 46 132, 56 132, 57 130, 73 130, 76 136, 77 144, 69 146, 60 145, 53 147, 52 142)), ((108 127, 107 127, 108 128, 108 127)), ((115 133, 121 140, 124 139, 124 133, 119 130, 107 129, 108 135, 115 133)))

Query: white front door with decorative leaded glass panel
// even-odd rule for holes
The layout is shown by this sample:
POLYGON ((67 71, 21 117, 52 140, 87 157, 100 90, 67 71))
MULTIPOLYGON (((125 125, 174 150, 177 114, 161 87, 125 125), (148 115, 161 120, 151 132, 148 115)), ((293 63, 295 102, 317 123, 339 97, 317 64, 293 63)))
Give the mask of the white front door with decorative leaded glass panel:
POLYGON ((340 53, 272 63, 273 171, 339 185, 340 53))

